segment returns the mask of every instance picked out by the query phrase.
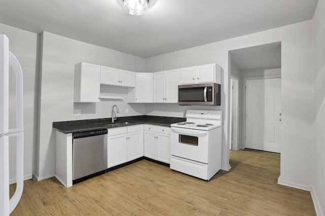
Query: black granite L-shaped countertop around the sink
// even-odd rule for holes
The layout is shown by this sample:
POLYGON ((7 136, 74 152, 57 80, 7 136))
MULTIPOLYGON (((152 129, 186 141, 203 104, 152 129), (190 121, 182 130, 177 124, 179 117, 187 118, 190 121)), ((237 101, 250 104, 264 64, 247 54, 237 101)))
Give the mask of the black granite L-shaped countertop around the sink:
POLYGON ((53 122, 53 128, 62 133, 78 133, 90 130, 100 130, 105 128, 116 128, 138 124, 154 124, 160 126, 170 126, 173 123, 184 122, 186 118, 175 117, 162 117, 162 116, 128 116, 118 117, 114 123, 115 125, 109 125, 112 122, 112 118, 104 119, 89 119, 89 120, 76 120, 76 121, 64 121, 53 122), (118 123, 129 122, 128 124, 118 123))

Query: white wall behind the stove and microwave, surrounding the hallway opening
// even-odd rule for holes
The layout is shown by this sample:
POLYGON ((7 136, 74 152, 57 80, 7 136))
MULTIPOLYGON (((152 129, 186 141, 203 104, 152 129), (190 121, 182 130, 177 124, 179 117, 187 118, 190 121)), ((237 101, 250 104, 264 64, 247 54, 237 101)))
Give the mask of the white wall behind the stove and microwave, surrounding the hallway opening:
MULTIPOLYGON (((147 71, 159 71, 215 62, 224 69, 223 99, 220 109, 229 113, 229 51, 245 47, 281 42, 282 62, 282 140, 280 184, 308 190, 312 184, 312 78, 311 21, 287 25, 244 35, 204 46, 180 50, 146 59, 147 71)), ((190 107, 194 108, 194 107, 190 107)), ((160 108, 182 116, 176 106, 160 108)), ((219 109, 219 108, 217 108, 219 109)), ((184 108, 185 110, 185 108, 184 108)), ((154 112, 152 112, 154 113, 154 112)), ((223 123, 222 165, 228 154, 229 119, 223 123)))

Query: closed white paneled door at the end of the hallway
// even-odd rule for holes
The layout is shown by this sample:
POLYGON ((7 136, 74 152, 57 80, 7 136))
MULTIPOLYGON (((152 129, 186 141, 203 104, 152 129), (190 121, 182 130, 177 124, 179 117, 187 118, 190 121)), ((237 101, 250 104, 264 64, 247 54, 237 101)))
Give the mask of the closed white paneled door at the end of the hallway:
POLYGON ((246 81, 245 148, 281 152, 281 78, 246 81))

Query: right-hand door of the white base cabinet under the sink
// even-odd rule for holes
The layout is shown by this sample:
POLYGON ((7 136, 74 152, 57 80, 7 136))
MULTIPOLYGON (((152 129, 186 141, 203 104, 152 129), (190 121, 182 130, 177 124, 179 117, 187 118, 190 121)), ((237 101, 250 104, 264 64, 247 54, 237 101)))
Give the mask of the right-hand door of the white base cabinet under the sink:
POLYGON ((128 161, 143 156, 143 131, 127 134, 127 148, 128 161))

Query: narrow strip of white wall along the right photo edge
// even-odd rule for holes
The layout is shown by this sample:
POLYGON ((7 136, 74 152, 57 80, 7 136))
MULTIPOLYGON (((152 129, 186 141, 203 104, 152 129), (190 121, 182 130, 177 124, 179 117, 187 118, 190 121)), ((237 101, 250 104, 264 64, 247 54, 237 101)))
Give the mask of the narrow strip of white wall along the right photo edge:
POLYGON ((314 148, 312 198, 317 215, 325 215, 325 1, 313 18, 314 148))

